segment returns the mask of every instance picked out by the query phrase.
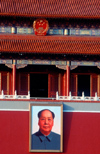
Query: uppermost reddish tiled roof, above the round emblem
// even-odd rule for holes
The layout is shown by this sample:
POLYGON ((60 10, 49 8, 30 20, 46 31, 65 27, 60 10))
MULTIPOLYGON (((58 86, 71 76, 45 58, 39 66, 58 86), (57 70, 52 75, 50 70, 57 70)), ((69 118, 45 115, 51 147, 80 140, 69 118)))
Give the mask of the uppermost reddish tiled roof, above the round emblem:
POLYGON ((0 15, 100 18, 99 0, 2 0, 0 15))

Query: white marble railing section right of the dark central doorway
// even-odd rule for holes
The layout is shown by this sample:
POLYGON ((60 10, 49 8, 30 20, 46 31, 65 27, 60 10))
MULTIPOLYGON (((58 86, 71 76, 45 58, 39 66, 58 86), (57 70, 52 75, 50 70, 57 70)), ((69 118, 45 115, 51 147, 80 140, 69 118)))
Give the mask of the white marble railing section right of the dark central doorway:
POLYGON ((69 96, 59 96, 58 92, 56 92, 56 100, 100 101, 100 97, 97 96, 97 93, 95 93, 94 97, 90 97, 85 96, 84 92, 82 92, 82 96, 72 96, 71 92, 69 93, 69 96))

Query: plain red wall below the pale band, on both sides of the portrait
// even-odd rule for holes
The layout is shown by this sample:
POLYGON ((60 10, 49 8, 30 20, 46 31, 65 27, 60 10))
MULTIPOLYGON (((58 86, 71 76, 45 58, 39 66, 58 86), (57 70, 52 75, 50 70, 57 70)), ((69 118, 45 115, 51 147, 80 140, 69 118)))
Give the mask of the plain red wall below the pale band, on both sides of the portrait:
MULTIPOLYGON (((63 130, 64 154, 100 153, 100 113, 64 112, 63 130)), ((29 154, 28 111, 0 111, 0 154, 29 154)))

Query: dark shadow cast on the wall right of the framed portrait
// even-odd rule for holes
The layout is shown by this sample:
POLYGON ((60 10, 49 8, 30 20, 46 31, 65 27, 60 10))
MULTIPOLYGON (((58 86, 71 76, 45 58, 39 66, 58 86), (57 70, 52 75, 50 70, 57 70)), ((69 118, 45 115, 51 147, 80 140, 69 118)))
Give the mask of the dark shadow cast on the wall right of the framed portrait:
POLYGON ((64 104, 63 105, 63 152, 67 152, 70 129, 71 129, 71 121, 74 108, 64 104))

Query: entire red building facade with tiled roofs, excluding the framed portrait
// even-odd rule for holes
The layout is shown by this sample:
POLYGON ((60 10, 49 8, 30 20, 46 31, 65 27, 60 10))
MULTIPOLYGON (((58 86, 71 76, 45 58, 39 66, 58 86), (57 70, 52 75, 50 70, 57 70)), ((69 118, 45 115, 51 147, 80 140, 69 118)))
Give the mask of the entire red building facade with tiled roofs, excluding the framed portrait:
POLYGON ((0 10, 1 153, 29 153, 30 103, 63 103, 62 153, 98 154, 99 0, 5 0, 0 10))

